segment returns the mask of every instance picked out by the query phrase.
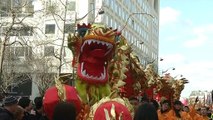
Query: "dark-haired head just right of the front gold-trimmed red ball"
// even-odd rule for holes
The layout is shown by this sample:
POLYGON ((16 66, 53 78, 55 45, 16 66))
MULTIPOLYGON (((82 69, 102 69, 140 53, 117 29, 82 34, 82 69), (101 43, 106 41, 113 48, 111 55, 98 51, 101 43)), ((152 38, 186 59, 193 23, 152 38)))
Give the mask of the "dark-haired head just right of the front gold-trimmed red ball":
POLYGON ((158 114, 153 104, 143 103, 136 110, 134 120, 158 120, 158 114))

